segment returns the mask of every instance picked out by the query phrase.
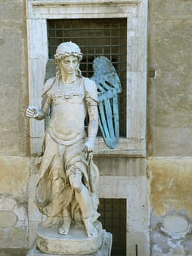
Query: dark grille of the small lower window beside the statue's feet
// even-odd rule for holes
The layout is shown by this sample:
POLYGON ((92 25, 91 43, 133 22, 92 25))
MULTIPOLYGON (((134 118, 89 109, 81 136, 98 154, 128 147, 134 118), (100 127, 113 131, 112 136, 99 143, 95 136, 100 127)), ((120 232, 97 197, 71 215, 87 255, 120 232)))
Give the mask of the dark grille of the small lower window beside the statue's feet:
POLYGON ((99 199, 99 221, 112 233, 112 256, 126 255, 126 199, 99 199))

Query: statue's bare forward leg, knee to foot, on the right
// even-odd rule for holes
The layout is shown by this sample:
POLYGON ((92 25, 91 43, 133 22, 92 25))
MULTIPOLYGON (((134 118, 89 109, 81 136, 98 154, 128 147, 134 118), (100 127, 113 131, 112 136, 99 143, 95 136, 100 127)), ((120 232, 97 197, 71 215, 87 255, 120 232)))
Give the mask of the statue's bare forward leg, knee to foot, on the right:
POLYGON ((88 189, 82 184, 82 173, 77 167, 72 167, 69 174, 69 183, 74 189, 77 203, 80 205, 82 220, 88 236, 96 236, 97 230, 91 219, 91 197, 88 189))

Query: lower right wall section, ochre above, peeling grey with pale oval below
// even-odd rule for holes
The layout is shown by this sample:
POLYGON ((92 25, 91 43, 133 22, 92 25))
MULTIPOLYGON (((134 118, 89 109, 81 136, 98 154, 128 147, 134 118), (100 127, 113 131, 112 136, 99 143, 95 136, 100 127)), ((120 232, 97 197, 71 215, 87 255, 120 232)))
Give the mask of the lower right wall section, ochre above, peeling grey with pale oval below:
POLYGON ((192 253, 191 168, 191 157, 148 159, 153 256, 191 255, 192 253), (168 230, 164 229, 164 221, 167 217, 174 219, 168 230), (160 227, 163 227, 163 230, 160 227))

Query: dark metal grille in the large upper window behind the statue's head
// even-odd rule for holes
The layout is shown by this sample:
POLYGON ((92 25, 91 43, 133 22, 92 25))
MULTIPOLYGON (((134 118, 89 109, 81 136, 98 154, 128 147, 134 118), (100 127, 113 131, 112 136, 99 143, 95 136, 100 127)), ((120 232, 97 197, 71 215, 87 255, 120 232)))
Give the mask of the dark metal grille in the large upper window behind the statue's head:
POLYGON ((47 20, 49 58, 61 42, 72 41, 80 46, 83 59, 82 75, 93 75, 93 59, 106 56, 120 77, 122 93, 119 97, 120 136, 126 137, 126 18, 47 20))

